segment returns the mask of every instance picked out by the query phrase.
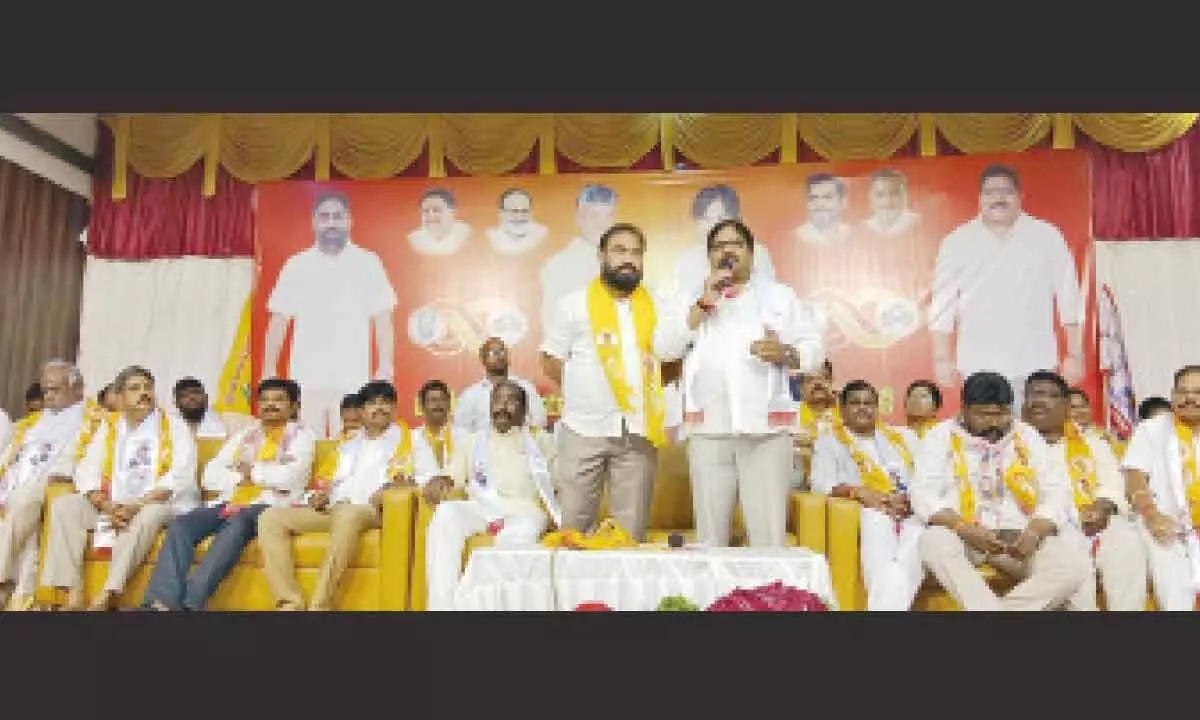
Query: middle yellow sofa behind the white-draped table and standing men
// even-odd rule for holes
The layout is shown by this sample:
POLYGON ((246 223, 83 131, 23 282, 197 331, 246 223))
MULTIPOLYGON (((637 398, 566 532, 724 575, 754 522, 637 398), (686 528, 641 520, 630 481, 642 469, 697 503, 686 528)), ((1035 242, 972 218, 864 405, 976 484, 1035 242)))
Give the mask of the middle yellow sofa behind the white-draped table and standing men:
MULTIPOLYGON (((792 500, 788 503, 788 533, 787 544, 797 545, 797 524, 814 524, 817 522, 816 518, 808 518, 803 523, 798 522, 797 518, 802 517, 803 512, 810 512, 811 510, 802 510, 797 503, 798 496, 802 493, 793 492, 792 500)), ((821 508, 821 535, 824 535, 824 508, 821 508)), ((608 497, 607 493, 600 500, 600 516, 605 517, 608 514, 608 497)), ((416 530, 413 539, 413 587, 412 593, 412 608, 413 610, 425 610, 426 601, 426 587, 425 587, 425 529, 430 524, 430 520, 433 517, 433 510, 422 499, 416 500, 416 530)), ((667 538, 673 533, 682 534, 689 541, 695 540, 696 530, 695 523, 692 522, 692 505, 691 505, 691 484, 688 475, 688 452, 683 444, 671 444, 661 448, 659 450, 658 468, 655 469, 654 476, 654 497, 650 500, 650 529, 646 533, 646 541, 650 544, 667 542, 667 538)), ((744 522, 742 520, 742 508, 738 506, 733 517, 733 538, 743 538, 745 535, 744 522)), ((473 535, 467 540, 467 546, 463 550, 463 566, 467 564, 467 559, 470 557, 472 551, 476 547, 487 547, 492 545, 493 538, 487 533, 479 533, 473 535)), ((814 548, 817 552, 823 551, 823 541, 821 548, 814 548)))

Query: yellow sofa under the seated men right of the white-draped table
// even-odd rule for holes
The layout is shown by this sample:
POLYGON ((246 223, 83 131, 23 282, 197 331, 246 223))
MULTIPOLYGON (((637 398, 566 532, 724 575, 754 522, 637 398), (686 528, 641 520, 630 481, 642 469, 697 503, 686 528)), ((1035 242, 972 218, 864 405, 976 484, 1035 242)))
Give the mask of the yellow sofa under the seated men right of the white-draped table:
MULTIPOLYGON (((816 516, 817 514, 826 516, 824 524, 828 528, 828 533, 824 539, 824 550, 829 562, 829 574, 833 581, 834 595, 838 598, 838 606, 841 610, 866 610, 866 586, 863 582, 858 536, 862 506, 848 498, 826 498, 817 493, 803 493, 803 497, 798 498, 798 506, 805 509, 803 511, 804 517, 816 516)), ((818 542, 815 538, 817 534, 816 526, 802 523, 802 528, 808 532, 800 534, 800 544, 808 547, 816 545, 818 542)), ((979 571, 997 593, 1006 593, 1015 584, 1009 576, 990 566, 984 565, 979 571)), ((1097 601, 1100 608, 1103 608, 1103 592, 1098 594, 1097 601)), ((917 593, 912 608, 919 611, 962 610, 931 575, 925 576, 925 582, 917 593)), ((1156 608, 1153 593, 1150 593, 1146 600, 1146 610, 1156 608)))

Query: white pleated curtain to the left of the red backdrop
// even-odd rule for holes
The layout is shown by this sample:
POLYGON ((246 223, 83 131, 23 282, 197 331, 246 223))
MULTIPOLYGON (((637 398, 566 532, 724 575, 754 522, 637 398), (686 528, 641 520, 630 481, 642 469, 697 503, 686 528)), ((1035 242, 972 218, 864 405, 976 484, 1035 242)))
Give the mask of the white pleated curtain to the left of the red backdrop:
POLYGON ((155 374, 173 407, 175 380, 199 378, 215 400, 254 278, 252 258, 125 262, 88 258, 79 370, 92 396, 128 365, 155 374))

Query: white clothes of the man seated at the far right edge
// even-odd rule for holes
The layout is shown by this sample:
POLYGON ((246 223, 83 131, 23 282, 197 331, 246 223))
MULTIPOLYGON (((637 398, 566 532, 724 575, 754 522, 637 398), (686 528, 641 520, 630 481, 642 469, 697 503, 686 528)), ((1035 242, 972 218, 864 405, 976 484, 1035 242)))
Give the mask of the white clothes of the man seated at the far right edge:
MULTIPOLYGON (((1198 450, 1200 442, 1192 449, 1193 452, 1198 450)), ((1146 553, 1150 556, 1151 582, 1158 607, 1164 611, 1190 611, 1200 593, 1200 540, 1192 527, 1184 494, 1183 460, 1180 456, 1180 440, 1175 434, 1175 415, 1164 413, 1139 422, 1121 458, 1121 467, 1145 473, 1159 512, 1171 517, 1182 528, 1182 538, 1163 545, 1138 520, 1146 553)))

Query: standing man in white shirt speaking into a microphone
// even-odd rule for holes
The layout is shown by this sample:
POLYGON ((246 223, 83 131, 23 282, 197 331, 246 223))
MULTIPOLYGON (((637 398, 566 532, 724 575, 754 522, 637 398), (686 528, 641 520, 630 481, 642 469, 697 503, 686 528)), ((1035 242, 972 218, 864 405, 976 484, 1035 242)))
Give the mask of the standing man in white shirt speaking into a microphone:
POLYGON ((797 403, 787 371, 814 372, 821 334, 792 288, 751 276, 754 235, 726 220, 708 235, 712 275, 686 310, 684 430, 702 544, 726 546, 740 498, 750 545, 782 547, 797 403))

